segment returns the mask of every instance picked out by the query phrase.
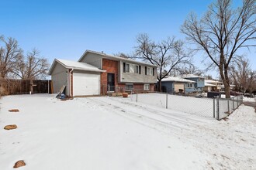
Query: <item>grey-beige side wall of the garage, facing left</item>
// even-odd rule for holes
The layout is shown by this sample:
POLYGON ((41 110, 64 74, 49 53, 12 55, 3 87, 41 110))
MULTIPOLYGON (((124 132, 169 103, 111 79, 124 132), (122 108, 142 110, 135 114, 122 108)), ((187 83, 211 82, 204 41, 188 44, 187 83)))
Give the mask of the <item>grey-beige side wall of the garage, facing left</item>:
POLYGON ((54 87, 54 93, 57 93, 61 90, 61 87, 66 86, 65 93, 68 94, 67 87, 67 69, 62 66, 60 63, 56 63, 53 72, 51 73, 51 80, 54 87))

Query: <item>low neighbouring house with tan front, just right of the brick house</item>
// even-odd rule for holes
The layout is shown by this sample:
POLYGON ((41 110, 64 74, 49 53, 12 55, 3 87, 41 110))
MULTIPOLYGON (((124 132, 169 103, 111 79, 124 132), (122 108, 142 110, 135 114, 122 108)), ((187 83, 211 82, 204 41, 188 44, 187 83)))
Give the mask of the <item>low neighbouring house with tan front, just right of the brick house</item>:
POLYGON ((178 76, 166 76, 161 81, 162 91, 168 93, 188 93, 195 88, 195 82, 178 76))

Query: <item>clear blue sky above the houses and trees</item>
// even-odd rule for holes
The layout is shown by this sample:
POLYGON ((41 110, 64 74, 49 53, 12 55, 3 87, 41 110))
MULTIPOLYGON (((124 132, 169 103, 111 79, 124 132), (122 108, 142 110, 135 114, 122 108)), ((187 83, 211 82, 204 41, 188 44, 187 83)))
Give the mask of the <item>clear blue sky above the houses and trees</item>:
MULTIPOLYGON (((28 51, 36 47, 49 59, 78 60, 86 49, 131 53, 136 36, 146 32, 155 41, 184 39, 180 26, 189 12, 202 15, 206 0, 0 0, 0 35, 13 37, 28 51)), ((236 4, 239 0, 234 0, 236 4)), ((256 70, 251 50, 252 69, 256 70)), ((195 56, 195 61, 200 61, 195 56)))

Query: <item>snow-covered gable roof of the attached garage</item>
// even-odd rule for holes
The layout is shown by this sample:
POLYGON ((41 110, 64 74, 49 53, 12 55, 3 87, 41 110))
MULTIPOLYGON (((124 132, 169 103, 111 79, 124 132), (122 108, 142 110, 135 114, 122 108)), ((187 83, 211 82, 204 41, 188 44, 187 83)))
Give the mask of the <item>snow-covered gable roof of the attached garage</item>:
POLYGON ((70 61, 66 59, 54 59, 54 63, 50 66, 50 70, 48 74, 51 74, 54 70, 54 67, 57 63, 60 63, 67 69, 74 69, 74 70, 85 70, 85 71, 92 71, 92 72, 106 72, 106 70, 100 70, 95 66, 92 66, 88 63, 81 63, 77 61, 70 61))

